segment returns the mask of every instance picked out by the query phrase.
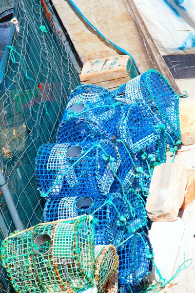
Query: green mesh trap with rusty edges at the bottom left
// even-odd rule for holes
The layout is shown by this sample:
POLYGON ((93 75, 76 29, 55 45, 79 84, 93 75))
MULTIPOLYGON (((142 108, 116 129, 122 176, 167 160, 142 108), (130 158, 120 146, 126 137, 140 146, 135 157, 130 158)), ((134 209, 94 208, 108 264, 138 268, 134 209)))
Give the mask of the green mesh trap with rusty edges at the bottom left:
POLYGON ((43 223, 11 234, 1 259, 16 292, 78 292, 94 286, 91 216, 43 223))

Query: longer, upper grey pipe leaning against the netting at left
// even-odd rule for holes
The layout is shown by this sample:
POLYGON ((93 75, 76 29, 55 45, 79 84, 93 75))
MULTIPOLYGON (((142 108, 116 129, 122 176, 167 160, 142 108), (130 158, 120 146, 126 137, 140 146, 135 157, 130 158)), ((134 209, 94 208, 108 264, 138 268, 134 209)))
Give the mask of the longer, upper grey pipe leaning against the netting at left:
POLYGON ((0 190, 2 192, 3 198, 5 200, 5 203, 7 205, 7 208, 10 212, 11 218, 13 220, 14 226, 16 228, 16 230, 24 230, 24 227, 22 225, 22 222, 20 220, 18 211, 16 209, 16 206, 14 204, 13 198, 11 196, 11 193, 9 191, 9 188, 6 184, 5 178, 2 174, 2 172, 0 171, 0 190))

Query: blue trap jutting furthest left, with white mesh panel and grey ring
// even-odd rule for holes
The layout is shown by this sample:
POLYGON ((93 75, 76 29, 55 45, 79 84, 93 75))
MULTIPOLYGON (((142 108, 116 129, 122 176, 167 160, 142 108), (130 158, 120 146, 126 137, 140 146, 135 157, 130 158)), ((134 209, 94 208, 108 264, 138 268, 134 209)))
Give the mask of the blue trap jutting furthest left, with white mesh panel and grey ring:
POLYGON ((36 158, 41 196, 107 195, 120 165, 117 147, 109 141, 95 144, 45 144, 36 158))

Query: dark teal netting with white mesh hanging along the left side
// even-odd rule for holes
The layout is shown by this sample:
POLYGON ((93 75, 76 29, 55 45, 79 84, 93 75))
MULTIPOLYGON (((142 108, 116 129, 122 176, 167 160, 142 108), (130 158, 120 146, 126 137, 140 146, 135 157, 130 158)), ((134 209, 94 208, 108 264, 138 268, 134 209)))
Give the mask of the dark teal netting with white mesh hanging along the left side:
MULTIPOLYGON (((0 165, 24 228, 36 225, 42 216, 34 175, 37 149, 54 142, 68 95, 79 84, 42 4, 43 0, 16 1, 12 17, 17 21, 11 23, 9 46, 0 63, 0 165)), ((13 6, 14 1, 0 0, 0 12, 13 6)), ((0 212, 9 232, 15 230, 2 196, 0 212)), ((1 272, 0 290, 9 292, 4 282, 1 272)))

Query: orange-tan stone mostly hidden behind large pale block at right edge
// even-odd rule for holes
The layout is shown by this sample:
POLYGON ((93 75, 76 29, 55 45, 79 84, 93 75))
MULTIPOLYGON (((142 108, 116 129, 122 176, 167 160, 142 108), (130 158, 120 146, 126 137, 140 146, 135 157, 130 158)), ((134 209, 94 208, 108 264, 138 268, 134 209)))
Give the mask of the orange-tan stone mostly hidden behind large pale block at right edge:
POLYGON ((187 169, 188 183, 185 190, 184 201, 180 209, 185 209, 187 205, 195 200, 195 169, 187 169))

